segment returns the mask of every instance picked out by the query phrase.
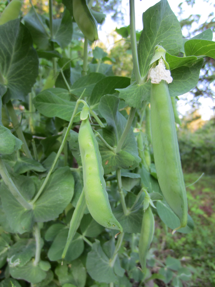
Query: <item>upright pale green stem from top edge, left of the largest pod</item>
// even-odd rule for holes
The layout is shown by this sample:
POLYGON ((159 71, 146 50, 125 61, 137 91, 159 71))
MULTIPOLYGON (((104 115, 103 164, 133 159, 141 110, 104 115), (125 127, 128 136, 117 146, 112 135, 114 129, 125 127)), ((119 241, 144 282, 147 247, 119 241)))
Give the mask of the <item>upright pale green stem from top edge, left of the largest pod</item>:
POLYGON ((129 7, 130 7, 131 51, 132 51, 134 73, 135 73, 137 84, 141 84, 141 75, 140 75, 140 69, 139 69, 139 64, 138 64, 138 55, 137 55, 134 0, 129 0, 129 7))

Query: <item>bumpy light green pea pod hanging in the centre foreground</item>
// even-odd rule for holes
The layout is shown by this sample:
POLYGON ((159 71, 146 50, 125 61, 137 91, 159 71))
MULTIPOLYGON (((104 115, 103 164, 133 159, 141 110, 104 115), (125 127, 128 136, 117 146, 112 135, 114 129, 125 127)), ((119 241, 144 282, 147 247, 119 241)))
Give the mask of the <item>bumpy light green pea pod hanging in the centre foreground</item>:
POLYGON ((122 226, 110 207, 99 146, 88 119, 81 122, 78 141, 83 166, 84 193, 89 212, 102 226, 122 232, 122 226))

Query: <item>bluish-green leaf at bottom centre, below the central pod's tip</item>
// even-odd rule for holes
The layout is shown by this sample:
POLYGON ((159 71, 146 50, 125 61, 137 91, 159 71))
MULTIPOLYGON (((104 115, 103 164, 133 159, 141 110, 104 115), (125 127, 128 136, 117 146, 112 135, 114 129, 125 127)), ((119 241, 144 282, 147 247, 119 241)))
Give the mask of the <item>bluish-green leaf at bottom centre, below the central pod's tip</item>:
POLYGON ((93 243, 91 251, 87 254, 86 268, 89 275, 98 282, 116 282, 117 276, 110 260, 101 248, 100 242, 93 243))

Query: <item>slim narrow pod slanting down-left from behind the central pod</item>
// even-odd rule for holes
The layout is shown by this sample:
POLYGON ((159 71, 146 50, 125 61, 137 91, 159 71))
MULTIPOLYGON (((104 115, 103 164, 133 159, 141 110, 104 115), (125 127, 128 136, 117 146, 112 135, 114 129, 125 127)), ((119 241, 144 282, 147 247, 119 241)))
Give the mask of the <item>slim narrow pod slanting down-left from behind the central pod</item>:
POLYGON ((70 221, 69 234, 67 237, 67 243, 64 247, 64 251, 62 254, 62 259, 64 259, 64 257, 66 256, 67 250, 69 248, 71 241, 73 240, 75 232, 79 228, 79 225, 80 225, 81 219, 84 215, 84 211, 85 211, 86 207, 87 207, 87 204, 86 204, 84 189, 83 189, 81 192, 81 195, 79 197, 79 200, 77 202, 77 205, 75 207, 75 210, 73 212, 72 219, 70 221))

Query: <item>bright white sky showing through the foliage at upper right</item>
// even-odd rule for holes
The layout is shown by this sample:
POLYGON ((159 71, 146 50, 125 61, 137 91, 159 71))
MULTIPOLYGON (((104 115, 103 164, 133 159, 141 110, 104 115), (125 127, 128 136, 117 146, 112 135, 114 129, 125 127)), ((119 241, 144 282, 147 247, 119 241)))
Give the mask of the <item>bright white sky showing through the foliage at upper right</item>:
MULTIPOLYGON (((146 11, 150 6, 155 5, 158 0, 135 0, 135 22, 136 22, 136 30, 142 30, 142 13, 146 11)), ((172 9, 172 11, 175 13, 177 18, 180 20, 179 16, 179 3, 183 2, 183 0, 168 0, 169 5, 172 9)), ((191 7, 191 5, 187 5, 186 3, 183 3, 182 5, 183 9, 183 19, 188 18, 191 14, 199 14, 201 15, 199 23, 193 23, 193 28, 198 27, 201 23, 204 23, 207 18, 208 14, 212 11, 215 12, 215 7, 210 3, 207 3, 203 0, 196 0, 196 3, 191 7)), ((108 49, 111 49, 114 38, 112 36, 113 31, 117 28, 128 26, 129 25, 129 0, 122 0, 122 13, 124 14, 124 23, 116 23, 111 19, 111 15, 107 15, 105 22, 101 26, 101 30, 99 29, 99 39, 105 44, 108 49)), ((186 35, 184 35, 186 36, 186 35)), ((118 36, 118 39, 120 39, 121 36, 118 36)), ((215 35, 214 39, 215 40, 215 35)), ((116 38, 115 38, 116 41, 116 38)), ((185 115, 186 113, 189 113, 191 107, 186 104, 183 99, 185 98, 191 98, 191 94, 187 93, 182 96, 179 96, 179 101, 177 103, 178 111, 181 115, 185 115)), ((208 120, 210 117, 214 116, 214 111, 211 107, 215 105, 215 102, 213 102, 212 98, 201 98, 201 107, 199 109, 200 115, 202 116, 203 120, 208 120)))

